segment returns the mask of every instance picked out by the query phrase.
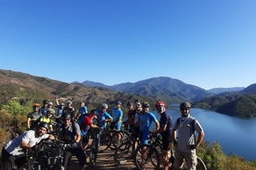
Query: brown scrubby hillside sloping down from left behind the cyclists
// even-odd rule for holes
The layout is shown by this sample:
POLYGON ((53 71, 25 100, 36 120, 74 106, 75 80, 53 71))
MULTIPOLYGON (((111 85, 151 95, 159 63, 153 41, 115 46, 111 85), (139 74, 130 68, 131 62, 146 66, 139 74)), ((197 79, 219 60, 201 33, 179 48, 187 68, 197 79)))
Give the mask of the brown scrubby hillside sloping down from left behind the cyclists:
POLYGON ((89 108, 100 103, 113 105, 115 101, 133 102, 135 99, 155 103, 154 99, 145 96, 128 94, 121 91, 111 91, 102 88, 85 87, 81 83, 66 83, 29 74, 0 69, 0 103, 10 99, 22 103, 42 103, 48 99, 55 102, 56 96, 70 99, 74 106, 80 102, 89 104, 89 108))

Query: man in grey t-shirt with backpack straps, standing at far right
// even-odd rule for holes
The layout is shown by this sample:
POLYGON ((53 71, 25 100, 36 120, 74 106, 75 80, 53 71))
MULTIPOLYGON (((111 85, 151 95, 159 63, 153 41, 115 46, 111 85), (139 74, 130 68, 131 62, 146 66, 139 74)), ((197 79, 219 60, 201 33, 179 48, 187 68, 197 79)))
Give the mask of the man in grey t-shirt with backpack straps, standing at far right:
POLYGON ((174 169, 180 169, 181 165, 186 163, 186 168, 196 170, 197 153, 196 149, 204 138, 203 128, 198 120, 190 115, 191 104, 188 102, 180 104, 181 117, 179 117, 173 126, 173 140, 175 146, 174 169), (178 138, 176 134, 178 130, 178 138), (198 133, 196 140, 195 131, 198 133))

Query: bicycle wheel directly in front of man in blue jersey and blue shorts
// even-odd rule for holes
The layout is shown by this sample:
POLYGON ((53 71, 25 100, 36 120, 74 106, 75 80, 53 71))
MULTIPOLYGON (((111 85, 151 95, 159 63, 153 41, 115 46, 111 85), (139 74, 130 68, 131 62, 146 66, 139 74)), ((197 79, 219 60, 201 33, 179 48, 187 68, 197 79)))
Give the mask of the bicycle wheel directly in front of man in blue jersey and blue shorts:
POLYGON ((135 152, 134 164, 137 169, 160 169, 160 153, 153 146, 143 144, 135 152))

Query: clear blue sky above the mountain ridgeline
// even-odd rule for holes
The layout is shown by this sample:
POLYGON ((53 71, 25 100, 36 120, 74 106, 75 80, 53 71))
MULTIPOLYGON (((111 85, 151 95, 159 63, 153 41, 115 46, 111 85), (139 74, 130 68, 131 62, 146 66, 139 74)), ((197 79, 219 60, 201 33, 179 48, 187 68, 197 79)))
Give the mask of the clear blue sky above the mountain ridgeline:
POLYGON ((0 0, 0 68, 107 85, 256 83, 255 0, 0 0))

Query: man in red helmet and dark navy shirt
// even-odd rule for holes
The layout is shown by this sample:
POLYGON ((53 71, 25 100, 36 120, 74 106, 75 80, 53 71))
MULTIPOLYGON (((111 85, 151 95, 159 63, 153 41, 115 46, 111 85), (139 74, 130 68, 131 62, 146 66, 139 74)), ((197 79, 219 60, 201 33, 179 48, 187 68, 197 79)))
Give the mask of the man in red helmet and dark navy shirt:
POLYGON ((153 135, 161 134, 162 139, 162 165, 164 170, 169 170, 169 155, 171 156, 173 118, 166 113, 165 103, 158 101, 155 105, 160 114, 160 129, 153 135))

